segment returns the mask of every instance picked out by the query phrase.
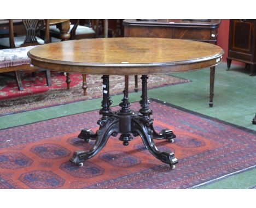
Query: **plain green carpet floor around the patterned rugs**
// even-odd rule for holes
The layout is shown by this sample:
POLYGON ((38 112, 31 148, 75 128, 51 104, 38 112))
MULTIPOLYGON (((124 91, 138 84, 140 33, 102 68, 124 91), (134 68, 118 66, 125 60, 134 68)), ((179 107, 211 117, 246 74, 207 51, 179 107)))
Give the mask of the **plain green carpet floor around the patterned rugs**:
MULTIPOLYGON (((250 77, 249 71, 241 66, 232 65, 231 71, 226 71, 225 69, 226 63, 222 63, 216 68, 213 108, 208 106, 210 69, 172 74, 190 79, 192 82, 150 89, 148 95, 149 97, 256 131, 256 125, 252 125, 252 118, 256 113, 256 76, 250 77)), ((138 93, 130 93, 129 100, 130 102, 141 100, 140 96, 140 91, 138 93)), ((113 106, 118 105, 121 98, 121 95, 113 96, 113 106)), ((100 105, 101 99, 94 99, 5 115, 0 117, 0 129, 91 111, 100 108, 100 105)), ((255 185, 256 170, 251 169, 228 176, 201 188, 251 188, 255 185)))

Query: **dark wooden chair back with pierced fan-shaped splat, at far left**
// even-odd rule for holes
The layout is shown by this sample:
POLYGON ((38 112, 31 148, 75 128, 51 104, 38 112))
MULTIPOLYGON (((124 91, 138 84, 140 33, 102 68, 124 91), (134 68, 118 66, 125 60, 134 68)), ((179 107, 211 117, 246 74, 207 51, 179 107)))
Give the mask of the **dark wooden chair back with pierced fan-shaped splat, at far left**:
MULTIPOLYGON (((37 30, 40 29, 40 22, 43 22, 41 25, 45 26, 45 38, 44 43, 47 44, 50 42, 50 33, 49 33, 49 20, 35 20, 35 19, 24 19, 22 20, 26 29, 26 38, 19 47, 31 46, 31 45, 40 45, 36 38, 37 30)), ((41 26, 42 27, 42 26, 41 26)), ((10 48, 15 48, 15 38, 14 38, 14 25, 13 20, 9 20, 9 43, 10 48)))

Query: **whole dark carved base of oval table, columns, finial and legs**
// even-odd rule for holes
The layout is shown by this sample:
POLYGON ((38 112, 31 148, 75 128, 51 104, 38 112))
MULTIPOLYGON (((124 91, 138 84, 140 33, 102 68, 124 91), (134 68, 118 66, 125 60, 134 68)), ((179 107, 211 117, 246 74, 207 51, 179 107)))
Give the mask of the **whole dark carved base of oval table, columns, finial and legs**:
POLYGON ((107 140, 110 136, 118 136, 119 140, 123 141, 124 145, 129 145, 129 142, 132 140, 132 136, 140 136, 143 140, 144 145, 148 151, 154 155, 156 158, 161 160, 164 163, 170 164, 172 169, 175 168, 175 164, 178 163, 174 153, 167 153, 159 151, 154 143, 153 139, 166 139, 169 142, 173 143, 176 136, 172 130, 165 129, 160 133, 157 133, 153 127, 153 119, 150 118, 150 115, 153 113, 149 109, 149 100, 147 96, 147 75, 142 75, 142 100, 139 102, 141 104, 141 109, 139 112, 132 111, 130 109, 131 104, 126 97, 126 91, 124 90, 124 98, 119 104, 121 109, 118 111, 112 112, 110 105, 112 101, 109 96, 109 76, 103 75, 103 100, 102 100, 102 109, 100 114, 102 118, 97 121, 97 124, 100 125, 100 128, 96 133, 92 132, 90 129, 83 129, 79 134, 78 138, 84 139, 85 142, 89 142, 90 139, 96 140, 94 146, 89 151, 78 150, 75 151, 73 157, 70 161, 79 166, 83 166, 83 162, 89 158, 95 156, 103 146, 107 143, 107 140))

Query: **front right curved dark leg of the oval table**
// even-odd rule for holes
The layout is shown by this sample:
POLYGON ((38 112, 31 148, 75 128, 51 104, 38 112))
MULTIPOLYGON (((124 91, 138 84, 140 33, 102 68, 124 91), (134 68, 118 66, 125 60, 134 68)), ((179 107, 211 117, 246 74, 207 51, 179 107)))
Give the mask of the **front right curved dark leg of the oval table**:
POLYGON ((156 148, 152 130, 148 129, 148 126, 142 119, 133 119, 134 121, 134 129, 133 129, 133 135, 141 136, 144 145, 148 149, 148 151, 154 155, 156 158, 161 160, 164 163, 167 163, 170 165, 172 169, 175 168, 175 164, 178 163, 178 160, 176 157, 174 157, 174 153, 167 153, 167 152, 161 152, 156 148), (143 124, 144 123, 144 124, 143 124))

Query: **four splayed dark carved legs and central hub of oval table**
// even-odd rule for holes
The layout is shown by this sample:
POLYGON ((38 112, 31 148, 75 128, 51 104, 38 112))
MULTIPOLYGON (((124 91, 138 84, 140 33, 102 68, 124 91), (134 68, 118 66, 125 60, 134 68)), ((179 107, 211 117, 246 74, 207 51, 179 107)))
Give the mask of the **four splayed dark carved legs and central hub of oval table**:
POLYGON ((132 139, 131 134, 133 134, 135 137, 140 136, 142 138, 144 145, 152 155, 160 161, 169 164, 174 169, 175 164, 178 163, 174 153, 161 152, 156 148, 154 143, 154 139, 168 140, 168 142, 173 143, 176 136, 172 130, 164 129, 160 133, 157 133, 154 130, 152 118, 144 120, 143 116, 138 112, 132 113, 130 115, 120 116, 118 112, 113 112, 112 117, 103 126, 100 126, 100 129, 96 133, 90 129, 83 129, 78 137, 84 139, 85 142, 89 142, 90 140, 96 140, 96 142, 89 151, 75 151, 70 161, 78 166, 83 166, 84 161, 95 156, 103 148, 110 136, 121 134, 119 139, 123 141, 124 145, 127 145, 132 139), (130 122, 127 123, 127 121, 130 122))

